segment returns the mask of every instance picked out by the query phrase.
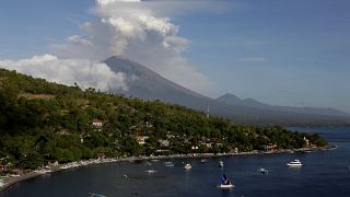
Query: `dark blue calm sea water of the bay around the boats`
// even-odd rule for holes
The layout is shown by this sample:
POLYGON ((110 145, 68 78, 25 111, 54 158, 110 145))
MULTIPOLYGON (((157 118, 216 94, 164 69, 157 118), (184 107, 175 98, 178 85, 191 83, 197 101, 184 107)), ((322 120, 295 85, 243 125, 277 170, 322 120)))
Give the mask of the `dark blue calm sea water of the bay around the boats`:
POLYGON ((240 155, 231 158, 171 160, 140 163, 112 163, 91 165, 58 172, 19 183, 0 194, 9 196, 350 196, 350 128, 291 128, 314 131, 324 136, 335 150, 311 153, 282 153, 265 155, 240 155), (285 164, 300 159, 304 166, 291 169, 285 164), (219 161, 224 167, 219 167, 219 161), (185 171, 184 162, 192 169, 185 171), (257 169, 266 167, 268 174, 257 169), (154 169, 149 174, 144 171, 154 169), (219 176, 225 173, 235 187, 222 190, 217 187, 219 176), (128 178, 124 177, 128 175, 128 178))

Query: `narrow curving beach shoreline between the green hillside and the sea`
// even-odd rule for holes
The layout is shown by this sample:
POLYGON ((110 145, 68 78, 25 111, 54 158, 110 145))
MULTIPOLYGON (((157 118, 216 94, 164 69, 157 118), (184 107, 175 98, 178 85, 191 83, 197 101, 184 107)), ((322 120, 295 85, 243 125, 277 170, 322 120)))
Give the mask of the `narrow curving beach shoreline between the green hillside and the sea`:
POLYGON ((326 147, 311 147, 301 149, 283 149, 276 151, 250 151, 250 152, 237 152, 237 153, 190 153, 190 154, 172 154, 172 155, 153 155, 153 157, 128 157, 128 158, 107 158, 107 159, 95 159, 88 161, 72 162, 68 164, 60 164, 50 166, 49 171, 30 171, 20 175, 7 175, 0 178, 0 193, 11 188, 11 186, 28 181, 32 178, 39 177, 45 174, 54 174, 59 171, 65 171, 68 169, 75 169, 93 164, 104 164, 104 163, 116 163, 116 162, 135 162, 135 161, 147 161, 147 160, 166 160, 166 159, 186 159, 186 158, 222 158, 222 157, 238 157, 238 155, 257 155, 257 154, 279 154, 279 153, 295 153, 295 152, 314 152, 314 151, 325 151, 336 149, 335 146, 326 147))

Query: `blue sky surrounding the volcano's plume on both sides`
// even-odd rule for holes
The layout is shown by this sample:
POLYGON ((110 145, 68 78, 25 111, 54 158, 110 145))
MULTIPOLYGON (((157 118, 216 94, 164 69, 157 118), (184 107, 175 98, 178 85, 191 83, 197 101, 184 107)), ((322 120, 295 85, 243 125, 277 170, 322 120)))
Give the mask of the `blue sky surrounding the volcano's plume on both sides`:
MULTIPOLYGON (((188 3, 182 2, 179 8, 188 3)), ((275 105, 350 112, 349 1, 201 3, 203 8, 189 4, 190 9, 175 9, 168 15, 160 7, 165 11, 159 15, 177 25, 176 37, 188 43, 186 50, 176 56, 186 59, 196 70, 194 73, 200 73, 210 85, 196 89, 190 81, 176 77, 174 81, 186 81, 188 85, 183 85, 210 97, 230 92, 275 105)), ((81 25, 100 21, 101 15, 92 11, 94 7, 93 0, 3 0, 0 59, 60 56, 52 50, 52 44, 62 43, 70 35, 86 35, 81 25)), ((168 70, 160 72, 166 76, 168 70)))

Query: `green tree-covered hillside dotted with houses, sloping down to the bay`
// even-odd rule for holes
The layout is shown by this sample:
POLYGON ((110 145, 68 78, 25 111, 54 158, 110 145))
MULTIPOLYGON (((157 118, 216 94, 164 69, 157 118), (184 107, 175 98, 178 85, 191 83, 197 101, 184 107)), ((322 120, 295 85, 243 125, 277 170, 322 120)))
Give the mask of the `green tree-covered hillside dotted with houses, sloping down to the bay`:
POLYGON ((327 144, 317 135, 280 126, 236 125, 184 106, 82 91, 3 69, 0 112, 0 164, 7 167, 104 155, 294 149, 306 147, 305 139, 327 144))

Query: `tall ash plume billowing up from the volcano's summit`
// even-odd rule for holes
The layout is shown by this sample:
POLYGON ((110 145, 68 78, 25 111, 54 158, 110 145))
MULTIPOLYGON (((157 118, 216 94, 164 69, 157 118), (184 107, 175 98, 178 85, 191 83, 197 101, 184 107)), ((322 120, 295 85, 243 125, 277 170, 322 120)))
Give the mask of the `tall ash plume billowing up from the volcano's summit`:
POLYGON ((220 3, 139 0, 95 2, 91 11, 100 20, 81 25, 86 36, 72 35, 61 44, 51 45, 55 55, 98 60, 118 55, 195 91, 212 88, 209 78, 182 56, 190 42, 178 35, 179 26, 167 15, 197 9, 215 10, 208 7, 219 8, 220 3))

